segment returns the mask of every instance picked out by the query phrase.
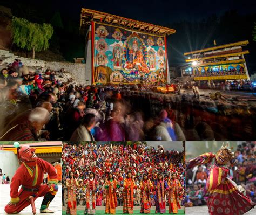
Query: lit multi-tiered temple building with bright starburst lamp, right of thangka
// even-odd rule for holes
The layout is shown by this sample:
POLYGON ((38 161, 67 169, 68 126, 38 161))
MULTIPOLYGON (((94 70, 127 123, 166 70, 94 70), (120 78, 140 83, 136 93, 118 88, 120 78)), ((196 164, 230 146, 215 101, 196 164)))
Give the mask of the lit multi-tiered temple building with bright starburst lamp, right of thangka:
POLYGON ((184 53, 186 66, 181 67, 183 77, 203 80, 250 80, 245 61, 248 40, 213 46, 184 53))

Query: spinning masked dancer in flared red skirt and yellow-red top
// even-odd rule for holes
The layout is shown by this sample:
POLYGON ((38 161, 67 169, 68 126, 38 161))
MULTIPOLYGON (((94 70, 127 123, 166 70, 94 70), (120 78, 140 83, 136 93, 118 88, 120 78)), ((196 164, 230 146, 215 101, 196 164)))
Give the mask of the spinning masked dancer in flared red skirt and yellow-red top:
POLYGON ((221 146, 216 155, 211 152, 191 159, 187 168, 193 168, 203 163, 210 164, 210 176, 206 182, 206 192, 209 195, 207 206, 209 214, 240 215, 251 210, 255 203, 244 196, 238 189, 237 184, 228 178, 229 169, 227 164, 235 164, 233 147, 227 148, 228 144, 221 146))

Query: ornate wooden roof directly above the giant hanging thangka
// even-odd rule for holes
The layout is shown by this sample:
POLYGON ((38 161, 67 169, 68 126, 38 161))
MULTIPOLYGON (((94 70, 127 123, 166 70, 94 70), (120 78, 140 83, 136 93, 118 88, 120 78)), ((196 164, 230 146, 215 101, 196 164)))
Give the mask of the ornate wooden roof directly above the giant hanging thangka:
POLYGON ((168 27, 140 22, 134 19, 124 18, 105 12, 82 8, 80 17, 80 34, 86 33, 86 29, 92 20, 96 22, 126 27, 127 29, 132 29, 144 33, 157 34, 160 36, 166 36, 176 32, 176 30, 169 29, 168 27))

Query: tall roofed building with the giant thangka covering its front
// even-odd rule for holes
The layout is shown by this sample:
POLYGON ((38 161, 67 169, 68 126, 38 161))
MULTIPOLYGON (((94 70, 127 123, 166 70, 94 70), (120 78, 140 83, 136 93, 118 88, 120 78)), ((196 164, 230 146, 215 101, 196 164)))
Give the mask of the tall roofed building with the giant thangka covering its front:
POLYGON ((166 37, 176 30, 82 8, 86 84, 169 82, 166 37))

